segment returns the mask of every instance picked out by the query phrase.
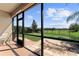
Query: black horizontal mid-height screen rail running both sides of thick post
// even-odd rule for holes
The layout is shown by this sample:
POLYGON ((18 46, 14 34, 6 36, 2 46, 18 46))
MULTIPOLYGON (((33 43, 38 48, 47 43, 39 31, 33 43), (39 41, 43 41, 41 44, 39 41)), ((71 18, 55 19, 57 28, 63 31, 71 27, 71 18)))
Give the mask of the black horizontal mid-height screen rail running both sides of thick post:
MULTIPOLYGON (((24 34, 24 35, 41 37, 41 35, 34 35, 34 34, 24 34)), ((56 38, 56 37, 48 37, 48 36, 43 36, 43 38, 79 43, 79 40, 73 40, 73 39, 67 39, 67 38, 56 38)))

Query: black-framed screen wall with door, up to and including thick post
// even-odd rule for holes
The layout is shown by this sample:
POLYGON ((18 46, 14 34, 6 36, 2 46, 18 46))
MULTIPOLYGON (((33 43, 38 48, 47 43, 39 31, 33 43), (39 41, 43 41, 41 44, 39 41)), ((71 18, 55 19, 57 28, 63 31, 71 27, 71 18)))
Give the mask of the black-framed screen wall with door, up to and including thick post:
POLYGON ((16 42, 43 56, 43 4, 37 4, 16 15, 16 42))

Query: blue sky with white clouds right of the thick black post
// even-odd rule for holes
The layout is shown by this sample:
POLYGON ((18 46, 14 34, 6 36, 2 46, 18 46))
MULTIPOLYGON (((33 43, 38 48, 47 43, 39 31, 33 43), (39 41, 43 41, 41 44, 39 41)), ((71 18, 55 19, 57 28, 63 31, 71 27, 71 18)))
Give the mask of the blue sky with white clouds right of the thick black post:
POLYGON ((69 28, 75 21, 67 23, 67 17, 79 11, 79 4, 44 4, 44 27, 69 28))

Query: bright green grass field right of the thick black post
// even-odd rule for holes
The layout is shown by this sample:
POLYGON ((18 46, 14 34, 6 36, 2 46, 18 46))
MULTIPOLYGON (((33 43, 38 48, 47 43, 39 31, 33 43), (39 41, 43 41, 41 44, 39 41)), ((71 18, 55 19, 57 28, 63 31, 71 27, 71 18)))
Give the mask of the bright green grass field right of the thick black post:
POLYGON ((69 30, 45 30, 44 36, 79 40, 79 32, 69 32, 69 30))

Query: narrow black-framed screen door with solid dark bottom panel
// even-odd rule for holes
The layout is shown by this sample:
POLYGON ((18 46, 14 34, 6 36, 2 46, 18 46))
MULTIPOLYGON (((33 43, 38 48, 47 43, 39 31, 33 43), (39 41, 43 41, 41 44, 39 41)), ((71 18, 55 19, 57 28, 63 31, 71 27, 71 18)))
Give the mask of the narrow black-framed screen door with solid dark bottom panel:
POLYGON ((17 15, 17 44, 20 46, 24 46, 24 38, 23 38, 23 13, 17 15))

